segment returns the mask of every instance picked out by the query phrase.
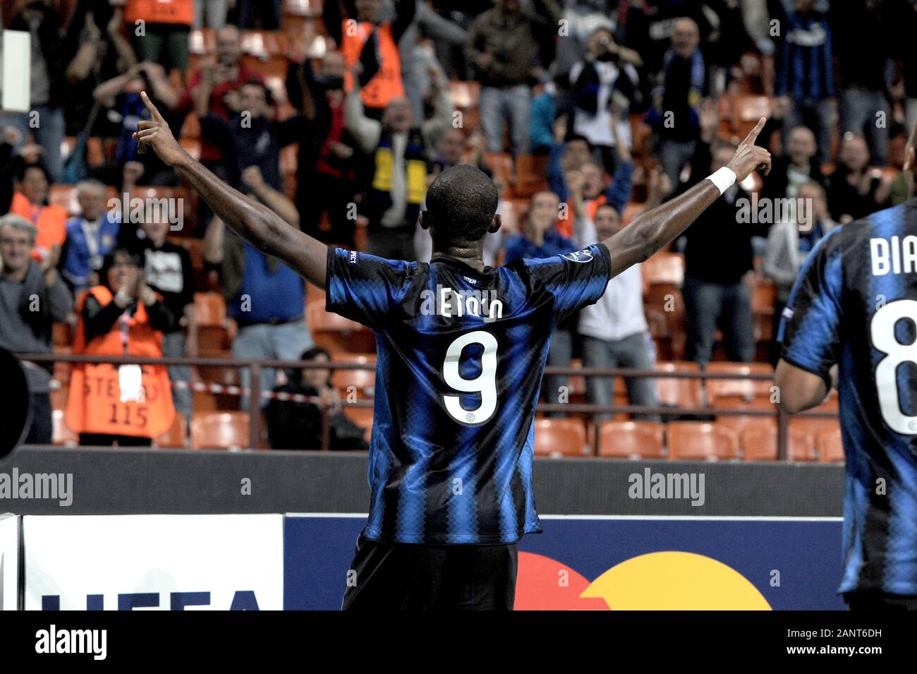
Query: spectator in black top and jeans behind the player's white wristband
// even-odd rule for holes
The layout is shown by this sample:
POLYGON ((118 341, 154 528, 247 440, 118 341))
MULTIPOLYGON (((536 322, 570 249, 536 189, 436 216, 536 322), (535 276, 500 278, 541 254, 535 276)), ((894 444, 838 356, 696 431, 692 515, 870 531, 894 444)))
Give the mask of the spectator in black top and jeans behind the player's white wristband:
MULTIPOLYGON (((691 159, 691 179, 680 186, 679 193, 732 158, 735 148, 730 145, 711 149, 718 123, 713 105, 705 105, 702 135, 691 159)), ((751 294, 745 281, 754 270, 752 238, 768 236, 768 225, 739 224, 738 212, 743 203, 750 203, 749 195, 735 183, 685 231, 685 277, 681 287, 685 358, 701 364, 710 362, 717 327, 723 332, 727 359, 747 362, 754 355, 751 294)))

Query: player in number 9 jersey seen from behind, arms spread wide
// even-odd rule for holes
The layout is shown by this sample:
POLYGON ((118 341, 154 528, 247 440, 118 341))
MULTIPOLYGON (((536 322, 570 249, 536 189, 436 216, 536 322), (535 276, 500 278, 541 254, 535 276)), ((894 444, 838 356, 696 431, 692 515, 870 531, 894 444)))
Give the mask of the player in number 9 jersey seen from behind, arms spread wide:
MULTIPOLYGON (((136 138, 229 227, 326 289, 329 311, 376 333, 370 517, 344 608, 512 609, 517 543, 541 530, 532 494, 535 407, 553 327, 615 274, 676 238, 736 180, 770 169, 758 121, 727 167, 588 249, 492 268, 497 190, 480 170, 440 173, 421 226, 429 263, 329 249, 220 182, 156 108, 136 138)), ((316 195, 315 198, 321 198, 316 195)))

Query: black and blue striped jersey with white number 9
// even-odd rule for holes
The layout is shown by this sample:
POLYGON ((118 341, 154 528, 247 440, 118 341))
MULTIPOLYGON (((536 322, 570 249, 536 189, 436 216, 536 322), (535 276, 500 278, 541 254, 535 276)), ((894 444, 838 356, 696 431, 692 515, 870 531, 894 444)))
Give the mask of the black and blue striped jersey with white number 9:
POLYGON ((376 336, 365 536, 487 544, 541 530, 532 443, 551 333, 610 277, 602 244, 484 271, 329 249, 327 310, 376 336))

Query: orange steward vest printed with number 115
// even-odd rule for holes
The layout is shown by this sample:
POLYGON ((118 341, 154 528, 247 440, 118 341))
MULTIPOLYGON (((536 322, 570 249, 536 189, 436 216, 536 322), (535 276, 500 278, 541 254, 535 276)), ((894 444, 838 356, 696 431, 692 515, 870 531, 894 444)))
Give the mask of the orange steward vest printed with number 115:
MULTIPOLYGON (((101 304, 114 300, 104 285, 96 285, 80 298, 76 311, 80 316, 73 341, 73 353, 90 356, 124 355, 120 319, 105 335, 86 342, 83 305, 93 295, 101 304)), ((127 320, 127 355, 162 357, 162 334, 149 326, 146 306, 140 302, 127 320)), ((110 363, 79 363, 73 366, 70 395, 64 415, 74 433, 106 433, 116 436, 156 437, 172 425, 169 370, 164 365, 141 365, 144 401, 121 402, 118 366, 110 363)))

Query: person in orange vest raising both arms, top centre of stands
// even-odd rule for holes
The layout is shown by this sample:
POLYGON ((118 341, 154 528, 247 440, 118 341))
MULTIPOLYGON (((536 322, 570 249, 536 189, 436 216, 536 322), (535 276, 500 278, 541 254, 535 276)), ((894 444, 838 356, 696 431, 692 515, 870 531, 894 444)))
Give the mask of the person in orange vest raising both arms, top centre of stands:
POLYGON ((322 17, 328 35, 340 45, 348 94, 356 87, 367 116, 380 119, 392 100, 404 95, 398 41, 414 21, 415 0, 396 0, 392 21, 382 20, 381 0, 325 0, 322 17), (354 65, 361 66, 354 78, 354 65))

